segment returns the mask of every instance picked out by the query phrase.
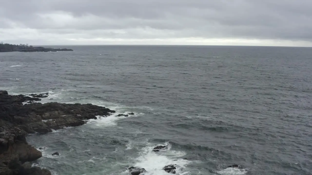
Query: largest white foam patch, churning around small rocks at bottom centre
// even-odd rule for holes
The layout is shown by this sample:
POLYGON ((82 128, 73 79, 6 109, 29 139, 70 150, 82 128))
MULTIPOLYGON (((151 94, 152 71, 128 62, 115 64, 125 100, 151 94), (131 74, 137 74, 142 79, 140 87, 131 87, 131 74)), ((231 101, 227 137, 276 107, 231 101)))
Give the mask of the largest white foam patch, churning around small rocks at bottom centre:
MULTIPOLYGON (((168 143, 162 144, 166 145, 168 143)), ((163 170, 163 167, 171 164, 176 165, 176 172, 180 175, 188 174, 186 171, 186 165, 190 163, 189 160, 183 160, 181 157, 185 155, 182 151, 171 150, 171 145, 169 144, 166 148, 161 149, 160 152, 153 152, 153 148, 157 145, 149 145, 142 149, 140 156, 136 158, 134 167, 145 168, 147 171, 145 175, 168 175, 167 172, 163 170), (173 161, 176 160, 176 161, 173 161)))

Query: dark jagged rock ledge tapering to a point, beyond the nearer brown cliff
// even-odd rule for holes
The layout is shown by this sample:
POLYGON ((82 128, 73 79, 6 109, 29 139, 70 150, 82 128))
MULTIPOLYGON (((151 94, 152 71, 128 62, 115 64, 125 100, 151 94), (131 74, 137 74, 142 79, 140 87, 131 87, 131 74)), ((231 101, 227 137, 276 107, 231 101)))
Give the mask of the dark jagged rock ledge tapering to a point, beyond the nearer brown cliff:
POLYGON ((115 112, 92 104, 35 102, 23 105, 22 102, 25 101, 41 99, 24 95, 12 96, 6 91, 0 91, 1 119, 15 124, 27 133, 47 133, 64 127, 79 126, 85 124, 85 120, 97 119, 96 116, 109 116, 115 112))

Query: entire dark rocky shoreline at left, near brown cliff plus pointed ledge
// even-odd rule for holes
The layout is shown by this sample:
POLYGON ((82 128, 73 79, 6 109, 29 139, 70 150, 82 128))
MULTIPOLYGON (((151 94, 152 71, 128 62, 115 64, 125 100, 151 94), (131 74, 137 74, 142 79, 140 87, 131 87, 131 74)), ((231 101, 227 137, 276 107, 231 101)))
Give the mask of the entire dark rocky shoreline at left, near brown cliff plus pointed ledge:
POLYGON ((115 111, 92 104, 38 103, 47 94, 9 95, 0 91, 0 174, 51 175, 47 169, 32 167, 42 157, 26 141, 27 134, 46 134, 52 130, 79 126, 96 116, 110 116, 115 111), (31 102, 23 104, 23 102, 31 102))

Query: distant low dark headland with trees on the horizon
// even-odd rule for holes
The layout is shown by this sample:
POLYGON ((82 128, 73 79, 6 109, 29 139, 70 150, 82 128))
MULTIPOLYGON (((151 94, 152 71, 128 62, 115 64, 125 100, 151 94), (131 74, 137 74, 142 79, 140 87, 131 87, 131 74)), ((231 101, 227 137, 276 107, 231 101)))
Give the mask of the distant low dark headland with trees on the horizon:
POLYGON ((0 42, 0 52, 57 52, 57 51, 74 51, 74 50, 33 47, 32 45, 28 44, 13 45, 0 42))

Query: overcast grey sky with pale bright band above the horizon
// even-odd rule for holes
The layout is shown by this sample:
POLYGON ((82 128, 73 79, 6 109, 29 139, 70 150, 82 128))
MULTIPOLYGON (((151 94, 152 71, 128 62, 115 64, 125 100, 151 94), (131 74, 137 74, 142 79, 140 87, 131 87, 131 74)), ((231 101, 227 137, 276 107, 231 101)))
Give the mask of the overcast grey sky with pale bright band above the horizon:
POLYGON ((1 0, 0 41, 312 46, 311 0, 1 0))

